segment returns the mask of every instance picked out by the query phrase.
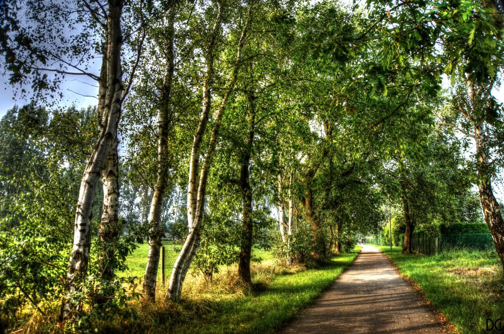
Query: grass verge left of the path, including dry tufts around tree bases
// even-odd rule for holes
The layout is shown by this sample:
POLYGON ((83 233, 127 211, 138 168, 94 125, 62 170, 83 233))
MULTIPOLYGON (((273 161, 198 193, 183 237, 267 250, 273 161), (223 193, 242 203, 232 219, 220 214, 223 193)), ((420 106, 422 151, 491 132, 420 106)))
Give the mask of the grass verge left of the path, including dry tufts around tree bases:
MULTIPOLYGON (((108 313, 91 312, 78 324, 79 330, 69 323, 65 327, 57 323, 56 303, 45 305, 46 316, 30 313, 31 317, 24 318, 13 332, 272 332, 331 284, 355 256, 338 255, 324 268, 306 270, 301 265, 282 268, 268 254, 251 265, 252 286, 238 278, 236 265, 220 268, 212 282, 192 271, 184 282, 183 300, 178 303, 166 301, 167 287, 159 285, 156 303, 136 300, 108 313)), ((137 291, 140 287, 138 282, 137 291)))

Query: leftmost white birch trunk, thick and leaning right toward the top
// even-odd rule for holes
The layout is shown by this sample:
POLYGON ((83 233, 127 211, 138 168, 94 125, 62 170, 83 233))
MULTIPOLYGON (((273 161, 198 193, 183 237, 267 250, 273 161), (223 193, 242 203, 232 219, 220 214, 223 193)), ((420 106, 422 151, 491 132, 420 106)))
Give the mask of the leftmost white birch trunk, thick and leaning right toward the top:
POLYGON ((66 280, 66 296, 61 304, 61 319, 80 318, 81 304, 73 295, 80 290, 79 284, 87 275, 90 251, 91 213, 99 177, 105 165, 111 143, 117 137, 117 121, 120 114, 122 95, 122 73, 120 64, 122 13, 121 1, 109 1, 105 32, 106 46, 102 61, 99 83, 100 132, 98 142, 88 159, 79 188, 75 215, 74 245, 69 260, 66 280), (102 94, 104 98, 102 98, 102 94), (103 103, 100 105, 100 103, 103 103))

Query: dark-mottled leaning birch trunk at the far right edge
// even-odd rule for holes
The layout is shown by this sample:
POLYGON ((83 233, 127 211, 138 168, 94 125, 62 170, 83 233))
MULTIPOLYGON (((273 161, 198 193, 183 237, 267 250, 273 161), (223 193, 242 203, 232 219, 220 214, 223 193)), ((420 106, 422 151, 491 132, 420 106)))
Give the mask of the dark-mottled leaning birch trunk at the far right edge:
POLYGON ((504 271, 504 221, 502 220, 501 207, 492 190, 487 138, 482 124, 473 123, 473 126, 475 130, 474 139, 476 140, 479 198, 486 225, 488 225, 488 229, 492 234, 495 250, 499 255, 502 270, 504 271))

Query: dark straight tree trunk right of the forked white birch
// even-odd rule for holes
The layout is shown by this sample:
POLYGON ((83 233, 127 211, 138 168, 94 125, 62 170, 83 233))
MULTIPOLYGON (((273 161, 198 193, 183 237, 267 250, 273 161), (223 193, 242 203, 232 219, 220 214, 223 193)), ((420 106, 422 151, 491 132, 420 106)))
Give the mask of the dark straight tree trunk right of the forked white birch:
POLYGON ((242 231, 241 245, 238 260, 238 276, 247 284, 251 284, 250 277, 250 257, 252 252, 252 236, 253 225, 252 218, 252 189, 249 180, 250 156, 254 146, 254 130, 256 122, 256 110, 254 108, 254 95, 248 95, 248 133, 245 141, 245 150, 241 157, 240 168, 240 190, 243 201, 243 209, 241 213, 242 231))

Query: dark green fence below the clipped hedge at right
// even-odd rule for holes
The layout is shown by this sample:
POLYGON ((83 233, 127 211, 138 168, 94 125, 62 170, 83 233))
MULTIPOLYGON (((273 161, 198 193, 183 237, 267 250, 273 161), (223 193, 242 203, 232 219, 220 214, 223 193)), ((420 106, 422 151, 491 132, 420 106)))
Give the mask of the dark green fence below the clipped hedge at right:
POLYGON ((490 233, 473 234, 440 234, 438 237, 426 235, 414 236, 411 239, 411 250, 430 255, 454 248, 485 250, 493 247, 490 233), (436 247, 437 239, 437 247, 436 247))

